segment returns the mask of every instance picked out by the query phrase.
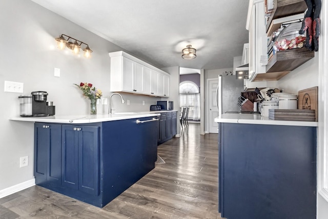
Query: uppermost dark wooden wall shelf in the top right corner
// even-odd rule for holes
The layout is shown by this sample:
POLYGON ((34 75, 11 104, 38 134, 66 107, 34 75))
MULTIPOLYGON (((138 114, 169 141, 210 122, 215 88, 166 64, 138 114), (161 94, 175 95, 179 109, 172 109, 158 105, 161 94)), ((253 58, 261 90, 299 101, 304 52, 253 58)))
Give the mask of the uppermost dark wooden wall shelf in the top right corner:
POLYGON ((304 0, 274 0, 274 7, 267 23, 266 32, 268 32, 273 19, 304 13, 307 8, 304 0))

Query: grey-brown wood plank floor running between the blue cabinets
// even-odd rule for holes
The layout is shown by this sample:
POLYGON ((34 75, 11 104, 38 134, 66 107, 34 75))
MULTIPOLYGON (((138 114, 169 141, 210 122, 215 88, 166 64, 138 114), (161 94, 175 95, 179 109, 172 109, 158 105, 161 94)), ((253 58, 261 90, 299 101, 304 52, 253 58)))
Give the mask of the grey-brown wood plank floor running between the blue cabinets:
POLYGON ((33 186, 0 199, 0 218, 221 218, 218 213, 217 134, 189 124, 158 146, 166 164, 100 209, 33 186))

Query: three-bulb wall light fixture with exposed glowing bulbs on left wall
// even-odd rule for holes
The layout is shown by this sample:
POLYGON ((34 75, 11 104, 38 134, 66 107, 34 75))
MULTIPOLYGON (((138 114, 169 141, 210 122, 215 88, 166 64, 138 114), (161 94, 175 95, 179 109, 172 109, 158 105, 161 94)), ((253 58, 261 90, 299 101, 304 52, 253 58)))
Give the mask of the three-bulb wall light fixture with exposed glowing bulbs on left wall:
POLYGON ((72 50, 72 53, 78 54, 80 52, 81 45, 84 44, 86 45, 86 48, 83 49, 84 51, 84 57, 90 58, 91 57, 91 52, 92 50, 89 48, 89 45, 86 43, 83 43, 71 36, 61 34, 59 37, 55 38, 57 41, 57 48, 58 49, 65 49, 65 47, 69 48, 72 50), (65 38, 67 37, 67 39, 65 38), (70 42, 69 40, 72 39, 74 42, 70 42))

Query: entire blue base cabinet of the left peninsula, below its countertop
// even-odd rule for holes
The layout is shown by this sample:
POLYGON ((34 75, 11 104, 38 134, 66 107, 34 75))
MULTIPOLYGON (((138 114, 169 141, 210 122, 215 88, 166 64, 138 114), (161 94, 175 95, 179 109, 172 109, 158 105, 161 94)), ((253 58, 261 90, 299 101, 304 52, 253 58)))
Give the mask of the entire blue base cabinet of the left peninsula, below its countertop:
POLYGON ((35 182, 104 207, 155 167, 156 126, 152 117, 80 125, 35 123, 35 182))

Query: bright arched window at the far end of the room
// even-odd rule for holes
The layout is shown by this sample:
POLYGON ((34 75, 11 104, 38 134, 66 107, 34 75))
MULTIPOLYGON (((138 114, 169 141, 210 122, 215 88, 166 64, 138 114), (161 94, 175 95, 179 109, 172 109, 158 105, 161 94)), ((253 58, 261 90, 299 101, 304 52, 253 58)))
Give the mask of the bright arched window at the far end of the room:
POLYGON ((198 86, 191 81, 184 81, 179 86, 180 107, 189 107, 189 120, 200 120, 200 101, 198 86))

